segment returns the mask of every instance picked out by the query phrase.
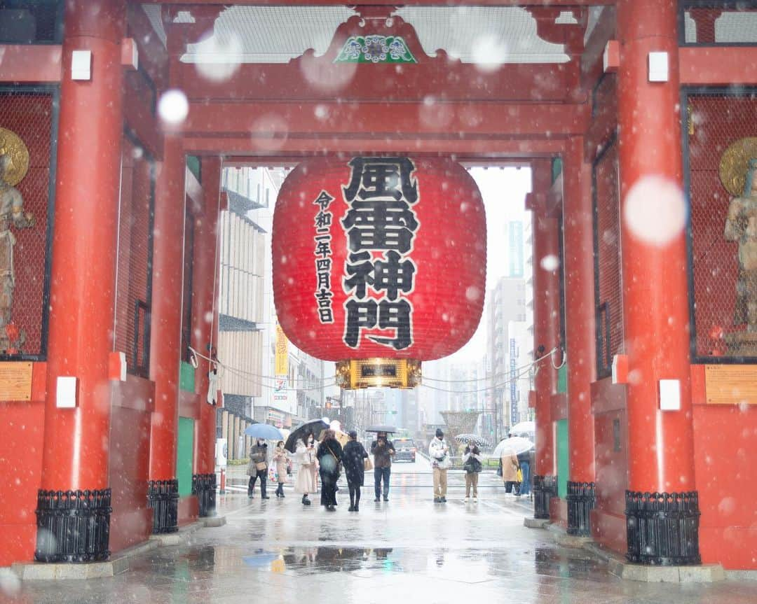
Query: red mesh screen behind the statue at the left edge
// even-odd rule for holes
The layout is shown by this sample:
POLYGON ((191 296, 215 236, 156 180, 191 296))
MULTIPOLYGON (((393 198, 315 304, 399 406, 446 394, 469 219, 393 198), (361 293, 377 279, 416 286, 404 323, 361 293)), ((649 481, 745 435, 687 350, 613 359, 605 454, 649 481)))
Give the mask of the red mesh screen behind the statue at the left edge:
POLYGON ((54 113, 52 91, 0 90, 0 128, 6 129, 0 154, 12 158, 6 178, 23 200, 14 202, 7 190, 0 200, 0 358, 36 360, 46 352, 54 113), (14 135, 29 153, 29 168, 18 182, 16 164, 24 163, 25 153, 14 151, 14 135))

